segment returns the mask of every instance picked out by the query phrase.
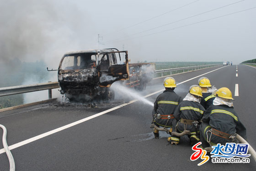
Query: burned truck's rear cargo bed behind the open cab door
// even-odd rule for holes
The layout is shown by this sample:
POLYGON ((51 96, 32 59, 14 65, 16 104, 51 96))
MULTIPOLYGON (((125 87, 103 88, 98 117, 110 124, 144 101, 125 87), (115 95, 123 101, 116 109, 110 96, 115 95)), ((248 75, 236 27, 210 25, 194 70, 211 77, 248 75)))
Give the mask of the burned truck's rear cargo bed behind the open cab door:
POLYGON ((147 83, 153 79, 155 73, 155 63, 130 63, 129 79, 123 83, 138 91, 143 91, 147 83))

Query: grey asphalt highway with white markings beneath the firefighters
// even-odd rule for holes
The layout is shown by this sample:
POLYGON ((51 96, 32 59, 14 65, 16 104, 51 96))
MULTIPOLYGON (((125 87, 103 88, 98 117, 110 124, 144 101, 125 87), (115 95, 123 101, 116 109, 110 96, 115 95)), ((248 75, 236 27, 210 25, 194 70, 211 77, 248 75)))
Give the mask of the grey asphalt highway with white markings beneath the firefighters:
MULTIPOLYGON (((185 97, 188 88, 197 84, 201 76, 208 77, 217 88, 228 87, 232 91, 235 111, 247 129, 248 142, 256 149, 256 68, 219 66, 174 75, 179 83, 175 92, 185 97), (235 90, 236 84, 239 91, 235 90)), ((153 80, 141 95, 163 89, 162 81, 153 80)), ((159 93, 146 99, 154 103, 159 93)), ((0 113, 0 124, 8 130, 8 145, 13 147, 16 170, 256 170, 256 162, 251 157, 247 164, 214 164, 209 160, 197 166, 202 160, 190 161, 194 151, 188 138, 182 137, 179 145, 172 146, 167 143, 166 133, 154 139, 153 130, 149 128, 153 107, 140 101, 132 103, 132 99, 118 92, 114 102, 98 103, 97 108, 51 102, 0 113)), ((0 145, 0 170, 7 171, 9 163, 2 148, 0 145)))

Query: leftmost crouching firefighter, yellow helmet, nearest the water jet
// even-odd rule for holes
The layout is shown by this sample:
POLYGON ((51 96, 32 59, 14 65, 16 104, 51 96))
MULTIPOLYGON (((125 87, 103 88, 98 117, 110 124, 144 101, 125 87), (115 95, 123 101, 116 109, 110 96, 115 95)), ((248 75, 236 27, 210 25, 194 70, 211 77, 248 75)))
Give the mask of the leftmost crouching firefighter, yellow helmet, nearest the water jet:
MULTIPOLYGON (((174 92, 176 81, 172 77, 167 77, 164 80, 165 91, 159 94, 154 103, 153 121, 157 127, 171 128, 172 120, 174 119, 173 113, 182 101, 181 96, 174 92)), ((169 131, 171 135, 171 129, 169 131)), ((154 128, 155 138, 159 138, 159 131, 154 128)))

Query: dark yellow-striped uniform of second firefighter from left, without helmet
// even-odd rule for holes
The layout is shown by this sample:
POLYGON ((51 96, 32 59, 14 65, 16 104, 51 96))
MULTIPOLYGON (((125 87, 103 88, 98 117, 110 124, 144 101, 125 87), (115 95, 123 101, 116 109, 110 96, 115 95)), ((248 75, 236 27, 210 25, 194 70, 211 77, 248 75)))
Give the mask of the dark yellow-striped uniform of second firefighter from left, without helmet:
MULTIPOLYGON (((194 101, 182 101, 178 105, 176 111, 174 112, 174 117, 176 120, 173 122, 172 129, 176 132, 183 132, 184 130, 190 130, 190 135, 188 137, 192 144, 198 142, 199 139, 199 124, 195 126, 192 124, 193 121, 199 121, 203 117, 203 112, 205 109, 203 106, 194 101)), ((171 135, 171 141, 176 144, 179 143, 180 137, 171 135)))

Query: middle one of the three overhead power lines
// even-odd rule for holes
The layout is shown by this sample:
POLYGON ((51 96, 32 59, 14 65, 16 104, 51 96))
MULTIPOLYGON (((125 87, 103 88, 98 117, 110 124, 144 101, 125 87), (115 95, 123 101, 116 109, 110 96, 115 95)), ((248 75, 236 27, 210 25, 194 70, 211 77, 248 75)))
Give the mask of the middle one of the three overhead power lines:
MULTIPOLYGON (((240 1, 234 2, 234 3, 232 3, 232 4, 228 4, 228 5, 221 6, 221 7, 219 7, 219 8, 215 8, 215 9, 213 9, 213 10, 219 10, 219 9, 221 9, 221 8, 224 8, 224 7, 227 7, 227 6, 230 6, 230 5, 234 5, 234 4, 239 3, 239 2, 242 2, 242 1, 245 1, 245 0, 240 0, 240 1)), ((163 27, 163 26, 167 26, 167 25, 170 25, 170 24, 173 24, 173 23, 179 22, 179 21, 187 20, 187 19, 192 18, 192 17, 195 17, 195 16, 200 16, 200 15, 202 15, 202 14, 205 14, 205 13, 211 12, 211 11, 213 11, 213 10, 208 10, 208 11, 205 11, 205 12, 203 12, 203 13, 200 13, 200 14, 197 14, 197 15, 194 15, 194 16, 189 16, 189 17, 187 17, 187 18, 183 18, 183 19, 181 19, 181 20, 173 21, 173 22, 167 23, 167 24, 162 25, 162 26, 157 26, 157 27, 154 27, 154 28, 151 28, 151 29, 148 29, 148 30, 140 31, 140 32, 134 33, 134 34, 132 34, 132 35, 128 35, 128 36, 124 36, 124 37, 120 37, 120 38, 113 39, 113 40, 110 40, 110 41, 116 41, 116 40, 118 40, 118 39, 122 39, 122 38, 125 38, 125 37, 134 36, 134 35, 137 35, 137 34, 140 34, 140 33, 146 32, 146 31, 155 30, 155 29, 157 29, 157 28, 160 28, 160 27, 163 27)), ((110 42, 110 41, 106 41, 106 42, 110 42)), ((106 43, 106 42, 105 42, 105 43, 106 43)))

